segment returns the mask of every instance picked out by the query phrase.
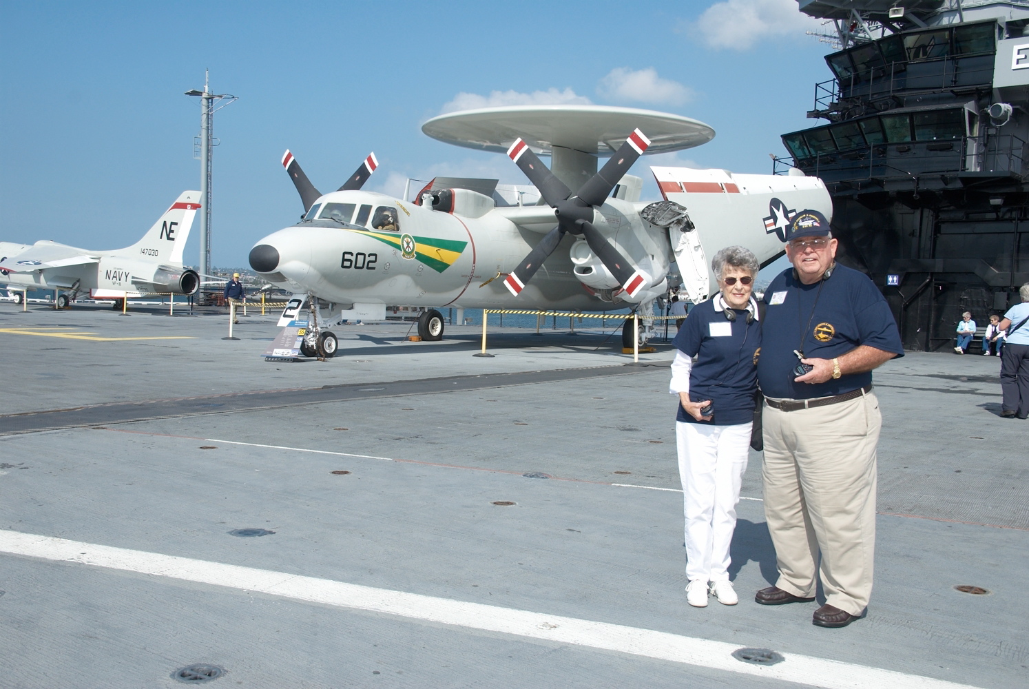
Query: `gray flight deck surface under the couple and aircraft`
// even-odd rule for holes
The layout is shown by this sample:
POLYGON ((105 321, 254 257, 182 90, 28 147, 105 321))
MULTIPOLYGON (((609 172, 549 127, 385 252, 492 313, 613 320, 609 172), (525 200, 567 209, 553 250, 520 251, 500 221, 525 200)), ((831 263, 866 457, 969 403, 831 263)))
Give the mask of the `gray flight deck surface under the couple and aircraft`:
MULTIPOLYGON (((340 325, 335 358, 268 363, 274 322, 223 341, 222 317, 0 304, 0 529, 1026 685, 1029 423, 997 415, 996 357, 876 373, 876 588, 865 619, 822 629, 814 604, 752 600, 775 579, 759 454, 736 607, 685 602, 681 493, 612 485, 680 487, 667 345, 634 367, 616 337, 506 330, 481 358, 473 328, 340 325), (133 339, 169 336, 191 339, 133 339)), ((0 687, 176 687, 200 662, 227 670, 212 687, 799 686, 9 554, 0 590, 0 687)))

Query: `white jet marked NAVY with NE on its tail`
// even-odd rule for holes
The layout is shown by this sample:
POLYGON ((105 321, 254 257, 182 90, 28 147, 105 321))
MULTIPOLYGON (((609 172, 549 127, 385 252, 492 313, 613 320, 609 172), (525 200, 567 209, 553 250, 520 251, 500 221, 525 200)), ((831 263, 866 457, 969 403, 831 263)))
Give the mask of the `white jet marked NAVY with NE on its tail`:
MULTIPOLYGON (((91 251, 48 240, 0 242, 0 282, 15 289, 66 289, 57 297, 58 308, 80 292, 113 299, 114 308, 143 294, 193 295, 200 276, 183 267, 182 249, 199 209, 200 192, 183 192, 141 240, 123 249, 91 251)), ((13 294, 21 303, 24 292, 13 294)))

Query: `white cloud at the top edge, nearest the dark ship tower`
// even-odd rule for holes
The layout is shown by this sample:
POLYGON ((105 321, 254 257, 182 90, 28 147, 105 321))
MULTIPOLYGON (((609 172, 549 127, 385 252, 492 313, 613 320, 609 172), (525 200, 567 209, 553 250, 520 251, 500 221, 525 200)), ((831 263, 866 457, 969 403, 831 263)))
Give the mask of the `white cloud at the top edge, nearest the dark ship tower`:
POLYGON ((803 36, 820 27, 821 20, 800 11, 796 0, 724 0, 704 10, 689 29, 710 47, 745 50, 764 38, 803 36))

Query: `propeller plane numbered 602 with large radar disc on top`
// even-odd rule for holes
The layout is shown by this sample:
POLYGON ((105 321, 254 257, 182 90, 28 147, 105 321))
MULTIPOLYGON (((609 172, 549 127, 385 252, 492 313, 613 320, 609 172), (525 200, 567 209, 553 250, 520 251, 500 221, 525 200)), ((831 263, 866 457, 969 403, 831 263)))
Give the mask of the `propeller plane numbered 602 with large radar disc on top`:
MULTIPOLYGON (((494 192, 497 180, 437 178, 414 202, 360 191, 375 169, 374 156, 340 191, 322 195, 287 150, 282 163, 306 213, 250 251, 255 271, 295 292, 280 323, 309 297, 329 303, 322 323, 381 319, 387 305, 419 307, 425 340, 442 337, 440 307, 629 307, 640 314, 642 344, 655 333, 654 300, 668 292, 669 276, 679 279, 673 264, 697 303, 717 289, 708 268, 715 251, 742 244, 767 265, 782 254, 785 228, 796 211, 832 212, 821 180, 800 171, 735 175, 653 167, 664 200, 639 201, 642 180, 626 173, 641 154, 714 136, 707 125, 679 115, 513 106, 440 115, 423 131, 458 145, 506 151, 539 191, 540 204, 506 204, 494 192), (553 171, 534 151, 552 156, 553 171), (598 172, 597 157, 605 154, 610 160, 598 172)), ((627 325, 623 342, 632 346, 631 321, 627 325)), ((331 338, 325 351, 334 351, 334 337, 323 335, 331 338)))

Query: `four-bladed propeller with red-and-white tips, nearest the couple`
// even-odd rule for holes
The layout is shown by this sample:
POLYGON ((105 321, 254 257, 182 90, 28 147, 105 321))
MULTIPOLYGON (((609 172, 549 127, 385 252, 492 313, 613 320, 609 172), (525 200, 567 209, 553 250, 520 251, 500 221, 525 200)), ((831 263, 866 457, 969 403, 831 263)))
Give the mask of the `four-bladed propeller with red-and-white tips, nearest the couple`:
MULTIPOLYGON (((551 230, 533 247, 529 255, 519 264, 504 280, 504 286, 516 297, 525 288, 526 283, 536 274, 543 261, 561 243, 565 233, 582 237, 594 254, 611 272, 611 275, 622 284, 629 297, 635 297, 649 281, 648 277, 633 265, 611 245, 607 238, 594 227, 595 207, 602 206, 604 200, 618 183, 629 168, 643 154, 650 145, 650 140, 643 132, 634 130, 618 150, 604 164, 597 174, 588 179, 578 194, 572 196, 571 190, 540 162, 522 139, 518 139, 507 149, 507 156, 525 173, 543 200, 554 208, 558 218, 558 227, 551 230)), ((298 188, 298 187, 297 187, 298 188)))

